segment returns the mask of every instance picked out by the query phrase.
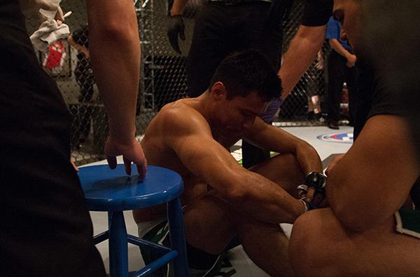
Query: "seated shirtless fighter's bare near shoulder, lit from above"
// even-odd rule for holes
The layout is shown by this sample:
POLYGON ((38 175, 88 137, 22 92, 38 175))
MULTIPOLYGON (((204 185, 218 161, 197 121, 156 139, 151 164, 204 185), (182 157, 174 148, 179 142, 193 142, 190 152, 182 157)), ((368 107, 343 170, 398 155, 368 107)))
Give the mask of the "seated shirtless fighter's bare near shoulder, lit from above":
MULTIPOLYGON (((196 109, 197 103, 194 99, 181 99, 166 104, 158 114, 158 120, 163 128, 182 131, 207 130, 210 131, 209 123, 196 109)), ((178 132, 176 132, 178 133, 178 132)))

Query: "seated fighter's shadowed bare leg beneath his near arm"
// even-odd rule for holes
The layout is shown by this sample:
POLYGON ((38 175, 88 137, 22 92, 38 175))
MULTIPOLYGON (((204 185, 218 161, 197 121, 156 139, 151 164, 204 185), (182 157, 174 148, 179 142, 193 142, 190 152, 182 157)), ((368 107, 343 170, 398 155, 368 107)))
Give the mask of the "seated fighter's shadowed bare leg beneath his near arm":
POLYGON ((293 276, 288 262, 288 239, 279 225, 255 222, 208 194, 184 210, 190 245, 210 254, 221 253, 239 234, 246 254, 271 276, 293 276))

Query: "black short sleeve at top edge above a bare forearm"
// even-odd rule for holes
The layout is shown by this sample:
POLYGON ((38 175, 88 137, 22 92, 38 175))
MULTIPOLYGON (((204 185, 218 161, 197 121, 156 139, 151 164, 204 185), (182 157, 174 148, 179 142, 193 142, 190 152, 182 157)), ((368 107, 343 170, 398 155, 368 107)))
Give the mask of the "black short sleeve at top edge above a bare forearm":
POLYGON ((323 26, 332 15, 332 0, 305 0, 302 25, 309 27, 323 26))

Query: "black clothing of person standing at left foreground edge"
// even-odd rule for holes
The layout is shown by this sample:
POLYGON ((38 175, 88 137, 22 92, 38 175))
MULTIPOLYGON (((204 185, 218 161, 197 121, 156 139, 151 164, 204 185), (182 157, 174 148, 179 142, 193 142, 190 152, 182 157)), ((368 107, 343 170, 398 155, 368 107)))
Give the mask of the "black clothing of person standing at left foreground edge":
POLYGON ((0 275, 105 276, 70 164, 70 117, 19 1, 0 4, 0 275))

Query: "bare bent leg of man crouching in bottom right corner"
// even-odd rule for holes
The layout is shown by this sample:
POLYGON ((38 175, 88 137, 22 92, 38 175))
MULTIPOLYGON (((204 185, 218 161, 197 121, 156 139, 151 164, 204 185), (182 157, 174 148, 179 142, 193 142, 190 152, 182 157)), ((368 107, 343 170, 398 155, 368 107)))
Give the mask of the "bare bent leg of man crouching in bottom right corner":
POLYGON ((357 234, 329 208, 307 212, 293 226, 290 261, 297 276, 420 276, 420 240, 394 229, 390 217, 357 234))

